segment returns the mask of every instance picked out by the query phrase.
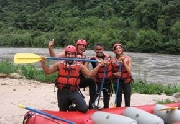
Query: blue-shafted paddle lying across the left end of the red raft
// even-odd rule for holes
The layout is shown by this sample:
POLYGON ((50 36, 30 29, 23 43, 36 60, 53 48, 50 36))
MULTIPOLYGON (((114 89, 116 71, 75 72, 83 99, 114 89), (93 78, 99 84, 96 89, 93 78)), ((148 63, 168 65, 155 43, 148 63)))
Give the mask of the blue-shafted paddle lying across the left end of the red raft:
POLYGON ((63 118, 60 118, 60 117, 57 117, 57 116, 45 113, 45 112, 37 110, 37 109, 33 109, 33 108, 30 108, 30 107, 25 107, 25 106, 23 106, 21 104, 19 104, 19 107, 27 109, 27 110, 30 110, 32 112, 35 112, 35 113, 38 113, 38 114, 41 114, 41 115, 45 115, 45 116, 50 117, 52 119, 56 119, 56 120, 60 120, 60 121, 63 121, 63 122, 67 122, 69 124, 76 124, 75 122, 72 122, 72 121, 69 121, 69 120, 66 120, 66 119, 63 119, 63 118))

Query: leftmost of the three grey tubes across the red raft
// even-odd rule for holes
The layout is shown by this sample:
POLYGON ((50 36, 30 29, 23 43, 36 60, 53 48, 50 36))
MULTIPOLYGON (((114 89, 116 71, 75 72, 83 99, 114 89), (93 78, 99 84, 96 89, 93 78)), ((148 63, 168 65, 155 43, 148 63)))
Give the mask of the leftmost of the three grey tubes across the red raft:
POLYGON ((137 124, 137 121, 129 117, 101 111, 95 112, 91 119, 94 124, 137 124))

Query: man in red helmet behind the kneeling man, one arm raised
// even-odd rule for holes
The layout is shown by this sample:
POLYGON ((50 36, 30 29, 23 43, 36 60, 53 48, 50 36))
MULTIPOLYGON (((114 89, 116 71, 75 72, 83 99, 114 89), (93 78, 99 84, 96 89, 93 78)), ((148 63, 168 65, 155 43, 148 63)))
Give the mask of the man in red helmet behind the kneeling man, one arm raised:
MULTIPOLYGON (((51 41, 49 41, 49 54, 51 57, 60 57, 60 58, 64 58, 65 57, 65 53, 61 52, 58 54, 54 53, 53 50, 53 45, 54 45, 54 39, 52 39, 51 41)), ((87 47, 87 42, 84 39, 79 39, 76 41, 76 49, 77 49, 77 58, 86 58, 86 55, 84 54, 85 50, 87 47)), ((88 62, 83 62, 83 64, 89 68, 89 63, 88 62)), ((83 75, 80 76, 80 84, 79 84, 79 88, 86 88, 89 87, 89 95, 90 95, 90 100, 89 100, 89 109, 93 109, 94 108, 94 102, 95 102, 95 95, 96 95, 96 85, 95 82, 92 78, 89 77, 85 77, 83 75)), ((80 91, 80 90, 79 90, 80 91)), ((69 103, 71 105, 71 103, 69 103)), ((72 106, 71 106, 72 107, 72 106)))

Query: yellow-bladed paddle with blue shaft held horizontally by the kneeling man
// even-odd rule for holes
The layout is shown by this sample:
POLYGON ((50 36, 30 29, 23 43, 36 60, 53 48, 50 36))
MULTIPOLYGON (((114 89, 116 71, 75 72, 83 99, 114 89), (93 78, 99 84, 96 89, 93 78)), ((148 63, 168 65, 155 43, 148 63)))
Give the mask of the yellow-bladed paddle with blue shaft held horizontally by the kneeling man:
MULTIPOLYGON (((86 62, 98 62, 98 60, 78 59, 78 58, 57 58, 46 57, 48 60, 74 60, 74 61, 86 61, 86 62)), ((41 56, 34 53, 16 53, 14 55, 14 63, 35 63, 42 60, 41 56)))

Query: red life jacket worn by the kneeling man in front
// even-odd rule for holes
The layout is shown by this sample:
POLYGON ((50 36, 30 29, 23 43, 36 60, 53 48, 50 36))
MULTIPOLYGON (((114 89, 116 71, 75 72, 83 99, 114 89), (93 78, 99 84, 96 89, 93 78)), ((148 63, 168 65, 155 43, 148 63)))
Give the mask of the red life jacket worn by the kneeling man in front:
POLYGON ((80 83, 79 71, 79 62, 73 62, 72 65, 67 65, 65 61, 61 61, 57 78, 57 87, 60 89, 77 89, 80 83))

